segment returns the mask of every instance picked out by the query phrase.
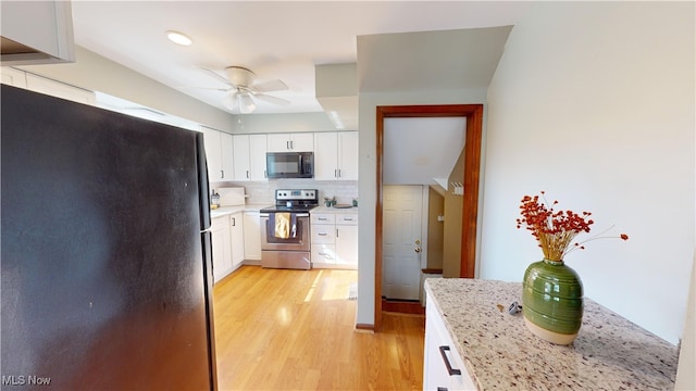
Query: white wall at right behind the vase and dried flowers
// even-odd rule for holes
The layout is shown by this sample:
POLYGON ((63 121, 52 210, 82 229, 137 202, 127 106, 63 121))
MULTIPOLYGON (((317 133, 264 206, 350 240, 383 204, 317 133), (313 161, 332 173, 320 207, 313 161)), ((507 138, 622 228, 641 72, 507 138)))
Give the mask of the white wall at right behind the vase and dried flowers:
POLYGON ((694 3, 540 2, 488 90, 481 277, 520 281, 542 253, 523 194, 594 213, 567 257, 585 295, 676 343, 694 260, 694 3))

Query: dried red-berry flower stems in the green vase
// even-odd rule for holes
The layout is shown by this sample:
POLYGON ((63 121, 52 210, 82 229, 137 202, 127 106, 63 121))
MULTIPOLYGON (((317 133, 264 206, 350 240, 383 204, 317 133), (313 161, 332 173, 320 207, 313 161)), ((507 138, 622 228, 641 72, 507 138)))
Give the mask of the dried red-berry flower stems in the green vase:
POLYGON ((554 201, 550 206, 544 197, 545 192, 542 191, 543 201, 539 202, 539 195, 524 195, 520 205, 520 214, 522 218, 518 218, 518 229, 523 224, 526 225, 526 229, 532 231, 534 238, 538 241, 544 257, 549 261, 563 261, 566 254, 573 250, 585 249, 584 243, 606 238, 619 238, 622 240, 629 240, 629 236, 621 234, 618 237, 601 236, 606 234, 612 227, 609 227, 605 231, 595 235, 586 240, 580 242, 573 242, 573 239, 582 234, 589 232, 589 226, 593 222, 589 216, 592 213, 583 212, 577 214, 573 211, 554 211, 554 206, 558 204, 558 201, 554 201))

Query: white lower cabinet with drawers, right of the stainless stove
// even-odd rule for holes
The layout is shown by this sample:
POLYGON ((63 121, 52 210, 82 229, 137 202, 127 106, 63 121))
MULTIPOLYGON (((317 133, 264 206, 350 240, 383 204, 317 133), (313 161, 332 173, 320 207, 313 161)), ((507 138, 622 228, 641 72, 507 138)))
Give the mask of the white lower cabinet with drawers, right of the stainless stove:
POLYGON ((311 213, 312 266, 358 267, 358 214, 311 213))

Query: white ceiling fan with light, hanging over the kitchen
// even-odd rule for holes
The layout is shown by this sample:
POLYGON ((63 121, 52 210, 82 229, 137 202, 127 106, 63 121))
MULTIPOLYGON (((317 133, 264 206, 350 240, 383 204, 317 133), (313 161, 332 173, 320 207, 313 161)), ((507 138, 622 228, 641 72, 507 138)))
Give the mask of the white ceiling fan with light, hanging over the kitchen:
POLYGON ((287 90, 287 85, 279 79, 256 83, 257 75, 250 70, 241 66, 227 66, 225 73, 227 78, 208 68, 201 68, 220 81, 226 84, 227 88, 217 90, 229 92, 223 99, 223 105, 231 111, 239 111, 249 114, 257 109, 254 99, 261 99, 269 103, 287 105, 289 101, 270 96, 265 92, 287 90))

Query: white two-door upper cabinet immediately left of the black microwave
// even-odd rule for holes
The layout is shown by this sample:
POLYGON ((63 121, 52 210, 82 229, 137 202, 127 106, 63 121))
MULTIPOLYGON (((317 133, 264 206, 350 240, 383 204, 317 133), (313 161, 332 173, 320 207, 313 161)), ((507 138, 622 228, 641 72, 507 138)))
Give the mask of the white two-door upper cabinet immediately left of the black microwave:
POLYGON ((265 180, 266 135, 235 135, 235 180, 265 180))

